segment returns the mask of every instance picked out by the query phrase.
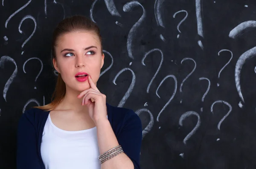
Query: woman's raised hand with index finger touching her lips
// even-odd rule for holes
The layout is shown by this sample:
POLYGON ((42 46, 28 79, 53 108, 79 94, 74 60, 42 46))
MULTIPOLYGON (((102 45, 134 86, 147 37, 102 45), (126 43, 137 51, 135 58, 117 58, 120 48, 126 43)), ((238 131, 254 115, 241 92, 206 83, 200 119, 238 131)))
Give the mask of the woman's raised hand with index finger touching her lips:
POLYGON ((89 115, 96 124, 99 120, 108 119, 106 95, 99 92, 99 89, 93 83, 93 80, 90 76, 87 80, 90 84, 90 89, 84 90, 77 97, 83 97, 81 105, 86 105, 88 107, 89 115))

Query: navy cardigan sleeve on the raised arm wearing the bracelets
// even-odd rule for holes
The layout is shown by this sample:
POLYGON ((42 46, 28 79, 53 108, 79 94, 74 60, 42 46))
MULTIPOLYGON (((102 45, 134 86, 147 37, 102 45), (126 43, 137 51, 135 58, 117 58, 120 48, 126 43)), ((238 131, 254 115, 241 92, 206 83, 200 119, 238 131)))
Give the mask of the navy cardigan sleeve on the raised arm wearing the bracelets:
POLYGON ((124 153, 131 159, 134 169, 140 169, 140 148, 142 143, 142 124, 140 117, 133 110, 125 116, 122 131, 117 140, 124 153))

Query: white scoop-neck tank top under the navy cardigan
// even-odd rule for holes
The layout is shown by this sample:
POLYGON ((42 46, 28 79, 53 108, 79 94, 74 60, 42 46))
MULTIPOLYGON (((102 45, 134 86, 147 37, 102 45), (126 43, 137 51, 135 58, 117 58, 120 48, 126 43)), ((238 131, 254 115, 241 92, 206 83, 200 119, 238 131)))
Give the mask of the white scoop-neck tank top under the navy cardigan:
POLYGON ((49 114, 41 156, 45 169, 100 169, 96 126, 80 131, 62 130, 52 123, 49 114))

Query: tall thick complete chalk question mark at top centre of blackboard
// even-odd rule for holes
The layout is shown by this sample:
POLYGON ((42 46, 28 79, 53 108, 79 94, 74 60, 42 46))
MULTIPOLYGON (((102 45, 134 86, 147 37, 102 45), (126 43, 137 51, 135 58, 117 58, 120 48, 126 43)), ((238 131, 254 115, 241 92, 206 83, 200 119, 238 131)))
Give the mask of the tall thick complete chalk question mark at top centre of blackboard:
POLYGON ((143 14, 140 17, 140 19, 134 24, 134 26, 132 26, 132 28, 129 31, 128 37, 127 37, 128 55, 132 59, 134 59, 134 57, 132 55, 132 43, 133 43, 134 36, 136 36, 135 30, 137 28, 139 28, 139 26, 143 22, 144 18, 146 17, 146 11, 145 11, 144 7, 138 1, 131 1, 131 2, 125 3, 125 5, 123 6, 123 11, 125 11, 125 12, 131 11, 135 6, 141 6, 143 9, 143 14))

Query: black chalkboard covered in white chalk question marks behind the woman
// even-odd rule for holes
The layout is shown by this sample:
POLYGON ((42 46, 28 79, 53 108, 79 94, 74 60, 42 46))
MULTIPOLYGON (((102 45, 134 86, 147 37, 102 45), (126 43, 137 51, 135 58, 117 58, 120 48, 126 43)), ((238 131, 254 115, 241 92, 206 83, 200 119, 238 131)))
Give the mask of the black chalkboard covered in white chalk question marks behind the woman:
POLYGON ((97 82, 143 123, 142 169, 256 168, 253 0, 2 0, 0 168, 16 168, 17 122, 50 102, 52 31, 81 14, 98 24, 97 82))

